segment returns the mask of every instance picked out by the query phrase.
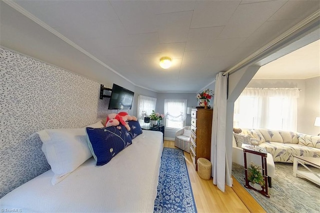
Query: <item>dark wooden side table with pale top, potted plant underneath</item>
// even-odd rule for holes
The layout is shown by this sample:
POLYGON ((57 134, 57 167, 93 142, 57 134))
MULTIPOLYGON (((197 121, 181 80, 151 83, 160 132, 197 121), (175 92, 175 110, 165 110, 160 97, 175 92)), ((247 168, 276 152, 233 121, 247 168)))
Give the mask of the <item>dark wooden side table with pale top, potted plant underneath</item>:
POLYGON ((250 144, 244 144, 242 143, 241 148, 243 148, 243 159, 244 159, 244 173, 245 173, 245 184, 244 186, 246 188, 250 188, 253 190, 256 190, 263 194, 266 197, 270 197, 268 194, 268 175, 267 175, 267 166, 266 166, 266 156, 267 152, 264 147, 256 146, 256 145, 250 145, 250 144), (262 189, 258 190, 251 185, 249 185, 248 180, 248 171, 247 171, 247 162, 246 162, 246 153, 252 153, 257 154, 261 156, 261 167, 262 167, 262 176, 264 177, 264 186, 261 186, 262 189))

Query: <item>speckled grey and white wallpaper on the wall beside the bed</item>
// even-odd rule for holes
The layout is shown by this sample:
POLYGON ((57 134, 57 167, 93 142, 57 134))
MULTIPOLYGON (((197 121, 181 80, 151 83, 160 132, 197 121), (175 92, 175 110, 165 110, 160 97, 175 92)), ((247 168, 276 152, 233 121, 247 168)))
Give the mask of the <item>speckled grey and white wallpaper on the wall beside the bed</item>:
POLYGON ((100 83, 0 48, 0 197, 50 169, 34 132, 75 128, 114 112, 100 83))

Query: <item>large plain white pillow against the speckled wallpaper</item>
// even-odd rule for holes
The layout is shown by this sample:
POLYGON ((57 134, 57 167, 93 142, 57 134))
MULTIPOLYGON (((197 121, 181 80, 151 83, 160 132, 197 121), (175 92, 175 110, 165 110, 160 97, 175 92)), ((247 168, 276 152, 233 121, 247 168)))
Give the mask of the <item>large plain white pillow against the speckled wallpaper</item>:
POLYGON ((36 133, 43 142, 41 150, 54 172, 52 185, 92 156, 84 127, 44 129, 36 133))

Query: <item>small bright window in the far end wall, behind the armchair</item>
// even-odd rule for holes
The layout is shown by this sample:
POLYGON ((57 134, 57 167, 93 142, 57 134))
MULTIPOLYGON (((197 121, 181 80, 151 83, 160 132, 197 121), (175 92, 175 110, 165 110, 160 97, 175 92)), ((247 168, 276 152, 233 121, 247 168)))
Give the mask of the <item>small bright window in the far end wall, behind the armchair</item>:
POLYGON ((186 99, 164 99, 166 128, 182 128, 186 118, 186 99))

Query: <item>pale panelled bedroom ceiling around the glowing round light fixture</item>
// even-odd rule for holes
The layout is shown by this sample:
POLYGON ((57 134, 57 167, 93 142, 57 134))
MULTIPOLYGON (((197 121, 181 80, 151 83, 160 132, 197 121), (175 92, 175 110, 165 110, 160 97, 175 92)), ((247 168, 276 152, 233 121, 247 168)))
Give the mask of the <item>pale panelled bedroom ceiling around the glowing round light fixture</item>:
MULTIPOLYGON (((13 0, 12 4, 134 85, 157 92, 199 91, 217 72, 320 8, 318 0, 13 0), (172 58, 170 68, 159 67, 162 56, 172 58)), ((267 66, 271 63, 263 69, 267 66)), ((257 76, 283 71, 271 69, 257 76)))

